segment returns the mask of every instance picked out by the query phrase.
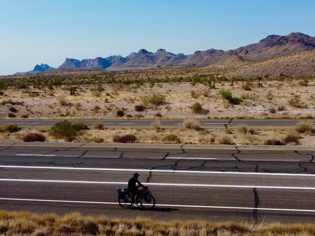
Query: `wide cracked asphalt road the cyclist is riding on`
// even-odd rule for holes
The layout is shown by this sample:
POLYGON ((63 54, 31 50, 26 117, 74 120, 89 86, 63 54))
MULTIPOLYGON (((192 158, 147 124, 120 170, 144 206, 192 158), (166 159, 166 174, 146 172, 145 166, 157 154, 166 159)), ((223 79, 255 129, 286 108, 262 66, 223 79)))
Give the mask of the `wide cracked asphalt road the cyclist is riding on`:
MULTIPOLYGON (((81 145, 81 144, 80 144, 81 145)), ((97 147, 0 144, 4 210, 144 216, 158 220, 314 222, 315 148, 97 147), (123 209, 132 173, 153 211, 123 209)))

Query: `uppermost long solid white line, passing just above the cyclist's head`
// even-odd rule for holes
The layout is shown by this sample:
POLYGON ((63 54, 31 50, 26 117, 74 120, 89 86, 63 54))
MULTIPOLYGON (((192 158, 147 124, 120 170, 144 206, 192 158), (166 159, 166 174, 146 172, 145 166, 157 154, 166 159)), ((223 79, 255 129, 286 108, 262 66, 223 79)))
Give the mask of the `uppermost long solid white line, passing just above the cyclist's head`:
POLYGON ((232 172, 232 171, 144 170, 144 169, 59 167, 59 166, 0 166, 0 168, 91 170, 91 171, 168 172, 168 173, 229 174, 229 175, 278 175, 278 176, 310 176, 310 177, 315 177, 315 174, 265 173, 265 172, 232 172))

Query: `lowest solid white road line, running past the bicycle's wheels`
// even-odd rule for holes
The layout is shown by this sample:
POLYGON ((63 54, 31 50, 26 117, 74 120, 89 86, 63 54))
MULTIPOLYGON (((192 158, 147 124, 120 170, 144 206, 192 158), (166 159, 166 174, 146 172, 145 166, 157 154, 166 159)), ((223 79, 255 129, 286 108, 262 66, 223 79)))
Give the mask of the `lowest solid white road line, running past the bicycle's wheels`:
MULTIPOLYGON (((13 201, 36 201, 36 202, 67 202, 67 203, 92 203, 92 204, 119 204, 118 202, 91 202, 91 201, 70 201, 70 200, 48 200, 48 199, 22 199, 22 198, 0 198, 0 200, 13 201)), ((151 204, 145 204, 151 205, 151 204)), ((191 207, 191 208, 220 208, 220 209, 240 209, 240 210, 265 210, 265 211, 304 211, 315 212, 315 210, 305 209, 282 209, 282 208, 254 208, 254 207, 238 207, 238 206, 200 206, 200 205, 172 205, 172 204, 155 204, 156 206, 172 206, 172 207, 191 207)))

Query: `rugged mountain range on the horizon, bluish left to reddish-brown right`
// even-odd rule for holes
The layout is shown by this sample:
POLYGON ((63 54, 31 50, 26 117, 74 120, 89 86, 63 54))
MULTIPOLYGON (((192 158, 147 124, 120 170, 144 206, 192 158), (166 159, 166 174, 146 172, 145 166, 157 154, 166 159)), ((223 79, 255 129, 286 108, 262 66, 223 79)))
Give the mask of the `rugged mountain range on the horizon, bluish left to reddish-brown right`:
POLYGON ((307 50, 315 50, 315 37, 298 32, 286 36, 269 35, 258 43, 227 51, 211 48, 184 55, 183 53, 170 53, 165 49, 158 49, 155 53, 140 49, 137 53, 130 53, 126 57, 118 55, 83 60, 66 58, 65 62, 56 69, 47 64, 41 64, 36 65, 33 70, 16 74, 31 74, 48 70, 135 70, 211 65, 222 62, 250 64, 307 50))

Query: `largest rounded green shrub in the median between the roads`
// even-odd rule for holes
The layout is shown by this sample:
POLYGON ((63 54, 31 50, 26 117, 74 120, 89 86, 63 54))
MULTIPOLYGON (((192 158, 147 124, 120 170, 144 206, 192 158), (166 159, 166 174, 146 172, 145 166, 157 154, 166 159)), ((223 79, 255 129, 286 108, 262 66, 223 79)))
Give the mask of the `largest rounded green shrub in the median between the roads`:
POLYGON ((50 127, 48 134, 54 138, 71 138, 77 135, 77 131, 69 121, 63 120, 50 127))

